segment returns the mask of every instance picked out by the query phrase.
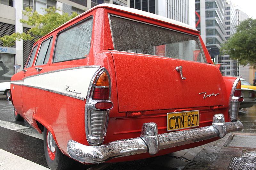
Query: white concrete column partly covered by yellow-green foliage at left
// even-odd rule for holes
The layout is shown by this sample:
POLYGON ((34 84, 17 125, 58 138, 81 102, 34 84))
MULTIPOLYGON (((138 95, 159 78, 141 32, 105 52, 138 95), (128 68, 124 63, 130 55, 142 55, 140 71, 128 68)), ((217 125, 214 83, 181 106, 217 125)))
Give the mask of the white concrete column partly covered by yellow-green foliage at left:
MULTIPOLYGON (((22 19, 22 1, 15 0, 14 8, 15 8, 15 33, 23 33, 23 25, 22 23, 20 23, 20 19, 22 19)), ((23 69, 23 40, 16 41, 15 64, 21 65, 18 71, 21 71, 23 69)))

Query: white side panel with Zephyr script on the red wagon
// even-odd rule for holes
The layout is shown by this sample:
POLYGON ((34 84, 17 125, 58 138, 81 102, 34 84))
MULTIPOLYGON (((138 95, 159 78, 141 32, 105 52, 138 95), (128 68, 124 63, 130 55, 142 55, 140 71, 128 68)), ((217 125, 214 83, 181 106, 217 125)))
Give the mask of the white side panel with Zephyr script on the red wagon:
MULTIPOLYGON (((24 86, 86 99, 93 75, 99 67, 63 69, 27 77, 24 86)), ((13 84, 22 84, 13 81, 13 84)))

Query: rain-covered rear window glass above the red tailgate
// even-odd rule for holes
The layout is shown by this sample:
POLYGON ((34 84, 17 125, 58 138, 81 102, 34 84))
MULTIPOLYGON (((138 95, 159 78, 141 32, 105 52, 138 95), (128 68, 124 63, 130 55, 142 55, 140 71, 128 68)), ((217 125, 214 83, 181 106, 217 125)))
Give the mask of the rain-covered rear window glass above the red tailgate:
POLYGON ((199 38, 110 15, 114 49, 205 63, 199 38))

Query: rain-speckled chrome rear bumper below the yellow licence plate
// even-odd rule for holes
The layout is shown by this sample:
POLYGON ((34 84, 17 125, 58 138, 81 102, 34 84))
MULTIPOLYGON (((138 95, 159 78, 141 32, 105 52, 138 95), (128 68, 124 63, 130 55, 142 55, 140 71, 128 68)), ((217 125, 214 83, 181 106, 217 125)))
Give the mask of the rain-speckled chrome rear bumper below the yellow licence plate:
POLYGON ((214 115, 212 125, 202 128, 159 134, 156 123, 144 123, 140 137, 117 140, 99 146, 87 146, 76 141, 68 141, 68 154, 71 158, 86 163, 101 163, 116 157, 148 152, 156 154, 159 150, 184 144, 224 137, 226 133, 239 131, 243 124, 239 121, 226 122, 224 115, 214 115))

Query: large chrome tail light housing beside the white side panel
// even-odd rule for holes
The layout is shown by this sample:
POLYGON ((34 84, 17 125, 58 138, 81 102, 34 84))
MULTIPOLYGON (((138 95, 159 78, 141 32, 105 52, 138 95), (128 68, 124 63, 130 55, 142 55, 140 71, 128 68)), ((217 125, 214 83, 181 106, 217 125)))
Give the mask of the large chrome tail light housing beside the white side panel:
POLYGON ((85 104, 86 139, 92 146, 102 144, 106 136, 109 110, 113 107, 110 94, 110 76, 101 67, 92 77, 85 104))

